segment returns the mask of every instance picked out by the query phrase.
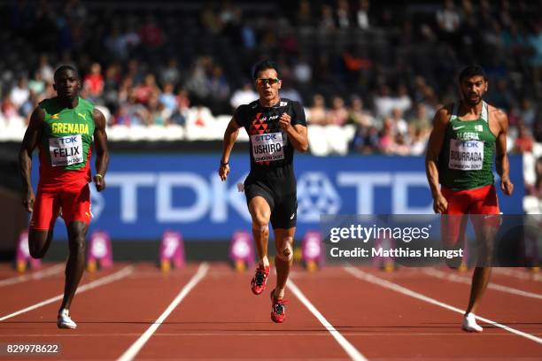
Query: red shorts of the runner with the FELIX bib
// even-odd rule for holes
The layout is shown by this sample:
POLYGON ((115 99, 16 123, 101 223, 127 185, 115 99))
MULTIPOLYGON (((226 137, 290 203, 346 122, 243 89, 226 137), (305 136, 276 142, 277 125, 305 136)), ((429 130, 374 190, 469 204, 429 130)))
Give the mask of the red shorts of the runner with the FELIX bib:
POLYGON ((66 226, 74 220, 90 223, 90 188, 86 179, 66 183, 38 184, 30 228, 52 229, 62 210, 66 226))

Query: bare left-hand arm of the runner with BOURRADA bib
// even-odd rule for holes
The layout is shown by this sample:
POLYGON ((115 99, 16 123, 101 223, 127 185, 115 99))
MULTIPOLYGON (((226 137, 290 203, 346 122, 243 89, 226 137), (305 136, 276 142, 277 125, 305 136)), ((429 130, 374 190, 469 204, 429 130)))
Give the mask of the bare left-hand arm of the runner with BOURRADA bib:
POLYGON ((433 196, 433 210, 436 213, 444 213, 448 208, 448 202, 442 193, 440 193, 437 157, 440 154, 440 150, 442 150, 446 127, 448 127, 449 121, 450 110, 447 107, 437 111, 433 119, 433 130, 431 131, 427 153, 425 154, 425 173, 427 174, 427 180, 431 188, 431 196, 433 196))

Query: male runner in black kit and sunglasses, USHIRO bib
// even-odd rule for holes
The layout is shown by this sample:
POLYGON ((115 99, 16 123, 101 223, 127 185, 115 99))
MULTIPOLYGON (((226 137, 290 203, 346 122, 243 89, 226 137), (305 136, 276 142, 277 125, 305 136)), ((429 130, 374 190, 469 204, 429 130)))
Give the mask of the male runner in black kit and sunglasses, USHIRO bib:
POLYGON ((219 175, 226 180, 228 158, 239 128, 250 136, 251 173, 244 180, 246 202, 252 216, 252 234, 258 249, 259 266, 252 279, 252 292, 259 295, 267 284, 268 224, 275 233, 277 274, 271 292, 271 319, 284 320, 284 288, 293 260, 293 237, 296 230, 298 201, 293 171, 294 149, 308 150, 305 112, 298 102, 280 98, 278 68, 270 60, 254 65, 253 72, 259 99, 239 106, 224 134, 219 175))

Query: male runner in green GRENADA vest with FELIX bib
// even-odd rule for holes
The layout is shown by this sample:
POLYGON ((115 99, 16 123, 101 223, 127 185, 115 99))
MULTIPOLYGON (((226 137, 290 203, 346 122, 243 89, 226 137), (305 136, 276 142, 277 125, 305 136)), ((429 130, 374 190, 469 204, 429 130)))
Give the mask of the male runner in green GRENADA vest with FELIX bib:
POLYGON ((58 311, 59 328, 75 328, 69 316, 75 290, 85 265, 85 235, 90 213, 91 143, 97 153, 94 181, 105 188, 109 162, 104 115, 79 96, 81 81, 72 66, 60 66, 54 74, 58 96, 45 99, 32 113, 19 152, 23 205, 32 212, 28 247, 41 258, 50 246, 60 210, 66 222, 70 256, 66 264, 64 299, 58 311), (34 195, 30 174, 32 153, 39 149, 40 178, 34 195))

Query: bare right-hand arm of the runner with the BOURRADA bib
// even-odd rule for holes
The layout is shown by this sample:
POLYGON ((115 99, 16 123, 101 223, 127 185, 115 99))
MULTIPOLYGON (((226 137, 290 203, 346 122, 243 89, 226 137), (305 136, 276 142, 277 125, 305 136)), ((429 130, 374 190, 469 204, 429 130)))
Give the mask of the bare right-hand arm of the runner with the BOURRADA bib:
POLYGON ((495 142, 495 167, 500 176, 500 189, 505 195, 510 196, 514 191, 514 184, 510 181, 510 164, 507 155, 508 117, 499 109, 494 109, 492 115, 499 124, 499 134, 495 142))

